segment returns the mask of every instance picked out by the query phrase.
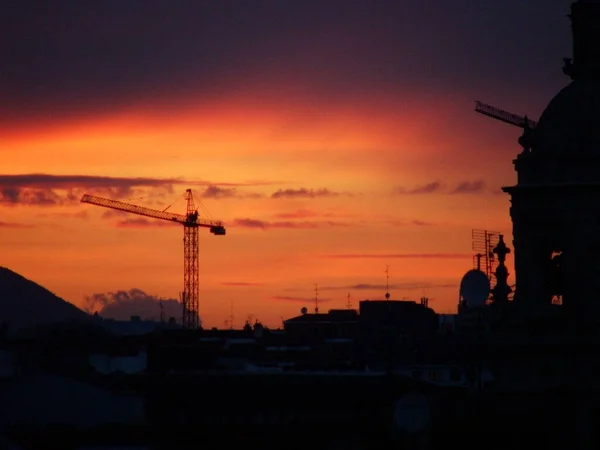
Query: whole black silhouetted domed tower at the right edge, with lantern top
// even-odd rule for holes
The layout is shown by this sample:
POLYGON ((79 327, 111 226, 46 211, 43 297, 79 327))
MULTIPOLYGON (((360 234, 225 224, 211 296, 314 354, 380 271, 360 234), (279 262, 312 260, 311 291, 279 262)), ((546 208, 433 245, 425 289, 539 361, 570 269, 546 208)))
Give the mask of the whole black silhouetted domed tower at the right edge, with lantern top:
POLYGON ((572 82, 548 104, 531 151, 513 161, 511 197, 516 290, 532 310, 552 303, 585 316, 600 312, 600 1, 569 15, 572 82))

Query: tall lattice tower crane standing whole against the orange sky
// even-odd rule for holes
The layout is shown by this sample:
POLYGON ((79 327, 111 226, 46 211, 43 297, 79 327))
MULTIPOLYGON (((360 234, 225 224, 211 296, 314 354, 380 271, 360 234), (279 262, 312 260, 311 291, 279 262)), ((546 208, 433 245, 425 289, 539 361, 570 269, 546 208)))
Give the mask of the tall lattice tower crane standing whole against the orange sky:
POLYGON ((96 197, 85 194, 82 203, 116 209, 153 219, 168 220, 183 225, 183 292, 181 293, 182 325, 185 328, 196 329, 199 326, 198 316, 198 228, 208 228, 215 236, 226 234, 223 222, 198 218, 198 210, 194 205, 192 190, 186 189, 186 214, 175 214, 157 211, 143 206, 131 205, 118 200, 96 197))

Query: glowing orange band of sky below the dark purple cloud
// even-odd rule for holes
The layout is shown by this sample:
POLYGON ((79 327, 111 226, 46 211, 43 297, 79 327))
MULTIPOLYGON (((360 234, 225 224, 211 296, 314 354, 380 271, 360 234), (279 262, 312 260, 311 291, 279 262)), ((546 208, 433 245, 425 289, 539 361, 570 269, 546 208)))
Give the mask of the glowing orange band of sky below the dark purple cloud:
MULTIPOLYGON (((518 136, 477 117, 467 102, 453 118, 454 99, 416 109, 393 99, 379 107, 365 100, 321 108, 228 99, 24 127, 4 139, 12 169, 6 175, 180 179, 134 187, 125 196, 85 182, 44 186, 58 196, 116 195, 157 209, 175 202, 177 212, 185 207, 183 191, 193 187, 228 228, 225 237, 201 233, 206 325, 221 326, 233 301, 239 323, 253 315, 277 326, 280 317, 312 308, 315 283, 321 310, 344 307, 348 293, 355 305, 383 298, 386 265, 393 298, 427 295, 436 310, 450 311, 472 264, 471 229, 510 234, 508 198, 498 192, 514 176, 505 156, 510 151, 499 149, 514 148, 518 136), (472 150, 477 141, 484 151, 472 150), (490 161, 495 148, 503 156, 496 164, 490 161), (465 182, 472 192, 453 192, 465 182), (220 190, 203 198, 203 183, 220 190), (427 185, 430 192, 411 192, 427 185), (284 194, 272 198, 278 190, 284 194), (265 226, 244 226, 254 221, 265 226), (359 284, 380 287, 352 288, 359 284)), ((123 227, 120 221, 135 217, 107 218, 105 209, 76 201, 1 208, 2 264, 77 305, 92 293, 139 288, 177 298, 182 288, 179 226, 123 227)))

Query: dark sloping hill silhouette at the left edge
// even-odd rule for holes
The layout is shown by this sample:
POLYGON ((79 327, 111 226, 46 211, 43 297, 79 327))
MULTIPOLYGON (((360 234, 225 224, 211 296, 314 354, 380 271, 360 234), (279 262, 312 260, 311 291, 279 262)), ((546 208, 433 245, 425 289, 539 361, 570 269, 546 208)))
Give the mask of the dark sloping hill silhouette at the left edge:
POLYGON ((85 321, 89 315, 48 289, 0 266, 0 323, 23 329, 85 321))

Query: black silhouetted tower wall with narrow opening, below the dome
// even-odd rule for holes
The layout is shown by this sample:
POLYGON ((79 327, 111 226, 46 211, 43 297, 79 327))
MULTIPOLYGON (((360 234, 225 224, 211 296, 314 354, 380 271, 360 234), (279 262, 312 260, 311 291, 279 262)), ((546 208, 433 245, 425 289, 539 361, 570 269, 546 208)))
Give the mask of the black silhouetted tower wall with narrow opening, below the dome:
POLYGON ((511 195, 515 302, 550 304, 561 286, 565 308, 600 312, 600 185, 514 186, 511 195), (552 257, 562 253, 560 276, 552 257))

